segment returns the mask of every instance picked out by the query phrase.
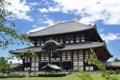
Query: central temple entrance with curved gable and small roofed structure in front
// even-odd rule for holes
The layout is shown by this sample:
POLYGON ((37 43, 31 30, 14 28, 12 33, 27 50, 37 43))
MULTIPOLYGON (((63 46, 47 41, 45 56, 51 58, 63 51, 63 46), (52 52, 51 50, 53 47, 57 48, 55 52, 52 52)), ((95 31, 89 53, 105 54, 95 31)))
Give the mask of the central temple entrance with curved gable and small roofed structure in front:
POLYGON ((63 48, 63 45, 54 40, 48 40, 44 43, 42 50, 45 50, 48 56, 48 63, 41 68, 42 70, 51 72, 52 70, 60 71, 62 69, 59 67, 60 59, 56 51, 56 49, 60 48, 63 48))

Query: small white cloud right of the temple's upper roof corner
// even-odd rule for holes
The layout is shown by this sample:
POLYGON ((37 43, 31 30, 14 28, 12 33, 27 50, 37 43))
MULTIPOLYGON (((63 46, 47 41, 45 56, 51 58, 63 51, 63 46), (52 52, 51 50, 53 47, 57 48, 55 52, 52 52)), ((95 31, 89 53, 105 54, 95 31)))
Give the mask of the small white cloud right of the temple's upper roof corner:
POLYGON ((120 40, 120 34, 119 33, 100 34, 100 36, 106 42, 114 41, 114 40, 120 40))

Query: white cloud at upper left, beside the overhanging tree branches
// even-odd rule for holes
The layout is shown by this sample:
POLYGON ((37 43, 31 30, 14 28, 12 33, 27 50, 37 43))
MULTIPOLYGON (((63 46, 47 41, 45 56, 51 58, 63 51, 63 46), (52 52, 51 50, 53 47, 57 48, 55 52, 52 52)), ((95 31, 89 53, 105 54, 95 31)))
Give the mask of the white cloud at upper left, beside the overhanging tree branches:
POLYGON ((25 0, 5 1, 11 3, 11 5, 6 5, 6 9, 12 11, 12 17, 27 21, 33 21, 33 18, 27 15, 27 13, 30 12, 30 6, 27 5, 25 0))

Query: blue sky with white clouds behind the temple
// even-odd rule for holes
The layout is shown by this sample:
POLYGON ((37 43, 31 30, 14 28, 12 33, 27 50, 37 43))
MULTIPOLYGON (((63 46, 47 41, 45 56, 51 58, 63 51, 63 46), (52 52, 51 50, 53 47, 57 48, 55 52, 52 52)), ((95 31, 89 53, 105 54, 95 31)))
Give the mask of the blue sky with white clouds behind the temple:
MULTIPOLYGON (((120 58, 120 1, 119 0, 5 0, 11 2, 6 9, 12 11, 12 20, 22 33, 37 31, 57 23, 73 21, 96 24, 106 41, 110 53, 120 58)), ((10 45, 0 50, 0 56, 9 56, 10 49, 26 45, 10 45)))

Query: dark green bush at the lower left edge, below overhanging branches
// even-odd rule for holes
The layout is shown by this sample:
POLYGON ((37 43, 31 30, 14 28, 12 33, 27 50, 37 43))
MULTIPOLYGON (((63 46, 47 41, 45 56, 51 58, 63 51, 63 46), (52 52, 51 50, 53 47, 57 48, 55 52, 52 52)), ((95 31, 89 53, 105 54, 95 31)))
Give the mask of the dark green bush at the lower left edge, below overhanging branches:
POLYGON ((0 72, 9 74, 12 71, 11 63, 8 63, 4 57, 0 57, 0 72))

